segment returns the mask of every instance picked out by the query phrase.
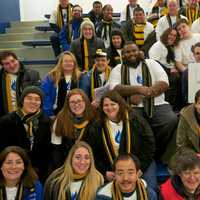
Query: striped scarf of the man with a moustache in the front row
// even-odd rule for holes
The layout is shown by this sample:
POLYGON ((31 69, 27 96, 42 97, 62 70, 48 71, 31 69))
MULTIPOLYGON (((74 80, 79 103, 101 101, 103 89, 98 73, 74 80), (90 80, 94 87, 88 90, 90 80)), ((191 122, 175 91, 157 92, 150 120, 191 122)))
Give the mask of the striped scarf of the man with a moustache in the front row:
MULTIPOLYGON (((113 181, 111 191, 112 191, 113 200, 123 200, 122 193, 116 181, 113 181)), ((137 192, 137 199, 148 200, 148 195, 147 195, 145 185, 140 179, 138 179, 136 182, 136 192, 137 192)))

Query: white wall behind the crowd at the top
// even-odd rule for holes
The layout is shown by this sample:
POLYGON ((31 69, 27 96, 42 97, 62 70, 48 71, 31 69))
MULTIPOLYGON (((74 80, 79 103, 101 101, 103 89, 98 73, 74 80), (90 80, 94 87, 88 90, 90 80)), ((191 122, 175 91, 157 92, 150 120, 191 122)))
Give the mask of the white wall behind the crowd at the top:
MULTIPOLYGON (((154 0, 139 0, 142 7, 148 9, 154 0)), ((72 4, 79 4, 84 13, 92 9, 93 0, 70 0, 72 4)), ((102 4, 111 4, 114 12, 120 12, 128 0, 101 0, 102 4)), ((58 0, 20 0, 21 21, 44 20, 44 14, 50 14, 57 7, 58 0)))

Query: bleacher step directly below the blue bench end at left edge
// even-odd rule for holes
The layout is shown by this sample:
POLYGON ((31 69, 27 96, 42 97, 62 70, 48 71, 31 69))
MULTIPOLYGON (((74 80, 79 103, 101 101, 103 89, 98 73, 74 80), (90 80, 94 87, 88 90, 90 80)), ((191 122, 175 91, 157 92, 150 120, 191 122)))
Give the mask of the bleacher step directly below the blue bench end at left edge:
POLYGON ((17 41, 17 40, 34 40, 49 39, 52 32, 36 32, 36 33, 7 33, 0 35, 0 41, 17 41))

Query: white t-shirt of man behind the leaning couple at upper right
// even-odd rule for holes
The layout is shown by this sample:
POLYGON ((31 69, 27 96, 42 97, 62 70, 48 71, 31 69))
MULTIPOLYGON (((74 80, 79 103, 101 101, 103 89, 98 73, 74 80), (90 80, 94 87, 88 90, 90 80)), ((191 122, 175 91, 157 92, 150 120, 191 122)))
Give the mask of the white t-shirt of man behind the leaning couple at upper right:
MULTIPOLYGON (((176 23, 176 16, 170 16, 172 25, 176 23)), ((185 16, 181 15, 181 19, 187 19, 185 16)), ((163 16, 158 20, 158 24, 156 26, 156 38, 157 40, 160 40, 160 36, 163 34, 163 32, 169 28, 169 23, 167 20, 167 16, 163 16)))

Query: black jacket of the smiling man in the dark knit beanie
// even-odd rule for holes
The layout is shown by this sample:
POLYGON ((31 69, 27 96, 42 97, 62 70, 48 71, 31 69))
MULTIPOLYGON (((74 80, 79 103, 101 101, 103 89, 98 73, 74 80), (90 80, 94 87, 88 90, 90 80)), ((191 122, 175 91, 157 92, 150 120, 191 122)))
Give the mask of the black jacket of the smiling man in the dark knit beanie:
POLYGON ((43 181, 47 175, 49 162, 50 127, 51 120, 42 113, 38 118, 38 128, 33 131, 34 142, 30 150, 30 140, 22 120, 16 112, 9 113, 0 118, 0 151, 12 145, 25 149, 29 153, 33 167, 39 170, 39 177, 43 181))

